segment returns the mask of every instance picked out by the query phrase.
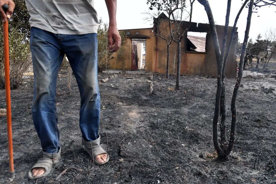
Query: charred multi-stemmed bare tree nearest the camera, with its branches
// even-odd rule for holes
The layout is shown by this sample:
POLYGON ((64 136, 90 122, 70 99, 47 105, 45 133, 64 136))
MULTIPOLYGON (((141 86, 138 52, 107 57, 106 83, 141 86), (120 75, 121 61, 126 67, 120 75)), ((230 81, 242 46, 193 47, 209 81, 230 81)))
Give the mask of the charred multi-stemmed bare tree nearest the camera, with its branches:
POLYGON ((225 112, 225 85, 224 85, 225 76, 224 76, 224 71, 225 71, 228 53, 229 53, 229 50, 230 50, 230 47, 232 44, 231 39, 233 39, 232 36, 233 36, 233 31, 235 29, 235 25, 237 23, 237 20, 238 20, 241 10, 243 9, 243 7, 246 6, 245 3, 247 3, 248 0, 245 1, 245 3, 241 7, 241 9, 236 17, 235 24, 233 26, 232 35, 230 38, 230 43, 229 43, 226 53, 225 53, 225 50, 226 50, 226 41, 227 41, 227 35, 228 35, 231 0, 228 0, 228 2, 227 2, 227 11, 226 11, 226 19, 225 19, 224 39, 222 42, 222 50, 220 50, 220 46, 219 46, 219 42, 218 42, 218 38, 217 38, 217 32, 216 32, 216 25, 214 22, 214 18, 213 18, 213 14, 212 14, 212 10, 209 5, 209 2, 207 0, 198 0, 198 2, 204 6, 205 11, 208 16, 208 20, 209 20, 209 24, 210 24, 210 28, 211 28, 211 34, 213 37, 216 60, 217 60, 218 76, 217 76, 217 92, 216 92, 215 112, 214 112, 214 118, 213 118, 213 142, 214 142, 215 149, 218 153, 218 158, 221 160, 227 160, 228 155, 232 151, 232 148, 233 148, 233 145, 235 142, 235 129, 236 129, 236 118, 237 118, 236 98, 237 98, 238 89, 239 89, 242 74, 243 74, 243 62, 244 62, 244 58, 245 58, 246 45, 247 45, 248 38, 249 38, 248 35, 249 35, 249 31, 250 31, 253 6, 255 5, 255 7, 261 7, 261 6, 265 6, 265 5, 275 5, 276 1, 274 1, 274 0, 256 0, 256 1, 250 0, 249 4, 247 4, 248 17, 247 17, 247 22, 246 22, 245 37, 244 37, 243 46, 242 46, 241 55, 240 55, 238 78, 237 78, 237 82, 235 84, 232 101, 231 101, 232 120, 231 120, 231 129, 230 129, 230 139, 229 139, 227 148, 224 148, 223 145, 220 146, 219 142, 218 142, 218 138, 217 138, 217 124, 219 121, 219 112, 220 112, 220 108, 221 108, 221 114, 224 113, 222 116, 222 122, 221 122, 221 138, 222 138, 222 140, 223 140, 223 138, 226 139, 226 135, 225 135, 226 112, 225 112))

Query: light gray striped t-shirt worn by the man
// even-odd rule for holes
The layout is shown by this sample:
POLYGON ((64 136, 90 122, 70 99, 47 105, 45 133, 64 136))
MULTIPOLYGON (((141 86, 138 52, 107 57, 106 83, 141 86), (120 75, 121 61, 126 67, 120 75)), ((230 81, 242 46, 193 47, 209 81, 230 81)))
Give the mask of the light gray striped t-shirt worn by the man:
POLYGON ((30 25, 55 34, 97 33, 94 0, 25 0, 30 25))

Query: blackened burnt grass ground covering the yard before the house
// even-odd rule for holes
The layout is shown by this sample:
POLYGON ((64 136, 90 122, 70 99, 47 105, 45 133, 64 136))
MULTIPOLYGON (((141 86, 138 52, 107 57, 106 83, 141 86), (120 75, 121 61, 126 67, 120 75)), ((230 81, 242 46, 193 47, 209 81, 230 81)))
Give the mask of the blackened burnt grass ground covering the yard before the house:
MULTIPOLYGON (((105 78, 100 74, 99 79, 105 78)), ((80 97, 76 81, 68 94, 67 76, 59 74, 56 99, 62 160, 37 183, 274 183, 276 179, 276 80, 243 78, 237 97, 236 142, 229 161, 217 160, 212 141, 216 78, 136 73, 118 75, 100 84, 101 145, 110 161, 98 166, 82 149, 80 97), (131 74, 128 74, 128 76, 131 74), (133 74, 132 74, 133 75, 133 74), (169 90, 170 89, 170 90, 169 90), (107 139, 106 139, 107 134, 107 139), (254 166, 255 165, 255 166, 254 166), (69 170, 55 178, 66 168, 69 170)), ((227 78, 227 131, 230 130, 235 78, 227 78)), ((0 108, 6 108, 0 90, 0 108)), ((42 156, 31 118, 32 77, 11 91, 14 167, 9 180, 6 117, 0 117, 0 183, 35 183, 27 172, 42 156)), ((228 135, 229 136, 229 135, 228 135)))

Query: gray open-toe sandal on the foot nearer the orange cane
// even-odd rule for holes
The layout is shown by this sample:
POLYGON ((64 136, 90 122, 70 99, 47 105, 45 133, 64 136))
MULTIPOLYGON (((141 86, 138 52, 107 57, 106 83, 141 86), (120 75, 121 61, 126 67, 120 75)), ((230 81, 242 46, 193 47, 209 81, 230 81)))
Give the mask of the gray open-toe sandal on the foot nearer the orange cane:
POLYGON ((47 176, 52 170, 52 165, 60 159, 60 150, 58 153, 54 154, 42 151, 42 154, 43 158, 38 159, 36 164, 30 169, 28 173, 28 177, 31 180, 37 180, 39 178, 47 176), (45 169, 45 172, 42 175, 33 177, 33 169, 38 167, 43 167, 45 169))

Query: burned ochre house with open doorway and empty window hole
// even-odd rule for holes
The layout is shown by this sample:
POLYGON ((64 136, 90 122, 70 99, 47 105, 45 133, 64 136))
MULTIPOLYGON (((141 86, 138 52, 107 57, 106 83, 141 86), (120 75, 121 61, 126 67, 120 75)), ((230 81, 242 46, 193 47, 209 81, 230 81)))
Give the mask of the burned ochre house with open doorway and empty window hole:
MULTIPOLYGON (((168 19, 161 17, 159 21, 168 22, 168 19)), ((183 29, 186 28, 187 24, 188 22, 183 22, 183 29)), ((228 38, 230 38, 232 28, 229 27, 228 29, 228 38)), ((164 30, 166 29, 168 28, 164 28, 164 30)), ((224 26, 216 25, 216 29, 221 45, 224 26)), ((156 36, 156 31, 158 31, 156 26, 153 26, 153 28, 120 31, 125 31, 126 33, 126 40, 121 45, 123 47, 124 57, 118 59, 117 53, 115 53, 114 59, 110 61, 110 68, 119 70, 138 70, 145 68, 145 71, 166 73, 167 43, 164 39, 156 36)), ((237 61, 235 60, 237 42, 238 33, 236 28, 225 69, 225 75, 227 76, 236 76, 237 73, 237 61)), ((177 44, 172 41, 169 54, 169 74, 176 73, 176 67, 177 44)), ((181 74, 217 75, 216 55, 209 24, 192 22, 187 36, 182 39, 181 74), (204 36, 191 36, 191 32, 203 33, 204 36)))

